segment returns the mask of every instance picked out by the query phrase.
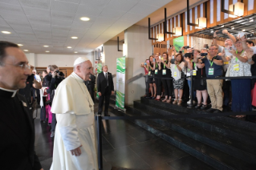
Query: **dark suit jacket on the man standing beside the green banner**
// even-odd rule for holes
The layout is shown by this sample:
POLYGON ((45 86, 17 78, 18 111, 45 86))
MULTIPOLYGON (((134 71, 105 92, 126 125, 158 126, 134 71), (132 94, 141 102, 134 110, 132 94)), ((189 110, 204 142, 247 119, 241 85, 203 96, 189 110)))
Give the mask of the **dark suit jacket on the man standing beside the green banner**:
POLYGON ((108 92, 114 91, 114 83, 112 74, 108 72, 108 82, 105 78, 104 72, 101 72, 97 78, 97 91, 100 92, 102 95, 106 93, 106 87, 108 86, 108 92))

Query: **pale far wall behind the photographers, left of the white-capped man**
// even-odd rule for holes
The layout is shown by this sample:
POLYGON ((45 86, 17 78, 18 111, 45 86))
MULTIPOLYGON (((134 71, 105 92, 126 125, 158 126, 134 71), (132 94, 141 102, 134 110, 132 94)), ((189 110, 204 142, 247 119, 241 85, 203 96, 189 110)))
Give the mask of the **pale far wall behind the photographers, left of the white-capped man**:
POLYGON ((73 67, 75 59, 79 57, 87 57, 94 63, 94 58, 91 53, 87 55, 51 55, 51 54, 34 54, 26 53, 26 58, 29 63, 35 67, 47 67, 50 64, 55 64, 58 67, 73 67))

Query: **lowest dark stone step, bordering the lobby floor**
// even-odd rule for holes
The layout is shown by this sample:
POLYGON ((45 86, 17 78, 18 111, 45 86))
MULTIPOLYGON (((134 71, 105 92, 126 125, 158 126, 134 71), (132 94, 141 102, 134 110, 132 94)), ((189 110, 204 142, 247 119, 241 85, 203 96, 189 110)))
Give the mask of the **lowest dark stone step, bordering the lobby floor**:
MULTIPOLYGON (((134 113, 131 108, 127 109, 126 116, 143 115, 142 113, 134 113)), ((161 139, 173 144, 177 148, 195 156, 197 159, 204 161, 213 168, 217 169, 255 169, 255 164, 248 164, 243 160, 239 160, 234 156, 230 156, 225 152, 221 152, 207 144, 203 144, 197 140, 193 140, 188 136, 173 131, 169 127, 155 123, 152 120, 133 120, 134 123, 152 132, 161 139)))

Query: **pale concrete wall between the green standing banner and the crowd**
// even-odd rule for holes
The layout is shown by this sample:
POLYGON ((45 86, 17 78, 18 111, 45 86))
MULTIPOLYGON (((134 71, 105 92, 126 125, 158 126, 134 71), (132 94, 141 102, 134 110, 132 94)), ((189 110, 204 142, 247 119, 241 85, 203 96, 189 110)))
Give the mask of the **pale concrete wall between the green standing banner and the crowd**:
MULTIPOLYGON (((127 44, 126 79, 144 74, 140 63, 152 54, 152 42, 148 39, 148 27, 133 25, 124 31, 124 43, 127 44)), ((125 104, 131 105, 145 94, 144 77, 125 85, 125 104)))

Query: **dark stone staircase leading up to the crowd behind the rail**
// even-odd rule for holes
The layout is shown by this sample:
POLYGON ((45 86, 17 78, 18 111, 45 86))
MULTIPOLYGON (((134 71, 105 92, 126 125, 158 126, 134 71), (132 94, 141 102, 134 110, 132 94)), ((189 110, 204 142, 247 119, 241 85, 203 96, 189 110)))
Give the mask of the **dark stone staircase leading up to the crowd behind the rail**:
MULTIPOLYGON (((112 97, 110 107, 115 106, 112 97)), ((141 98, 126 107, 124 116, 189 115, 204 111, 141 98)), ((256 169, 256 123, 227 116, 132 120, 216 169, 256 169)))

